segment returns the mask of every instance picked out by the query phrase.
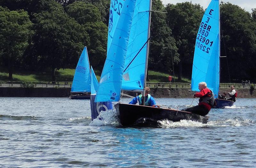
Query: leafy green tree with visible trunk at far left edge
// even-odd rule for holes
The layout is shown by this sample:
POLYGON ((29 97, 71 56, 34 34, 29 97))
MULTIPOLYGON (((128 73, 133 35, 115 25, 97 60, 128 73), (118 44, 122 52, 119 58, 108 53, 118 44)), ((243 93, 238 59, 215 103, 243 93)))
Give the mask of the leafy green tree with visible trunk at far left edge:
POLYGON ((32 35, 32 22, 24 10, 10 11, 0 6, 0 57, 7 62, 9 79, 16 62, 20 61, 32 35))

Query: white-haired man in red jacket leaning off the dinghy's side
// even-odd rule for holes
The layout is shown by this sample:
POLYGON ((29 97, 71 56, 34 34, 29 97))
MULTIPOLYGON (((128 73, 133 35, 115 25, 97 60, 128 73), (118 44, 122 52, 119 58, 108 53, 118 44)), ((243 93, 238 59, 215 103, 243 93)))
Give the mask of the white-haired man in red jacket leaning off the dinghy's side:
POLYGON ((207 84, 205 82, 200 82, 198 84, 198 88, 200 92, 194 94, 193 96, 194 98, 200 97, 198 105, 191 108, 182 109, 181 111, 189 111, 201 116, 205 116, 209 113, 214 105, 214 94, 212 90, 207 88, 207 84))

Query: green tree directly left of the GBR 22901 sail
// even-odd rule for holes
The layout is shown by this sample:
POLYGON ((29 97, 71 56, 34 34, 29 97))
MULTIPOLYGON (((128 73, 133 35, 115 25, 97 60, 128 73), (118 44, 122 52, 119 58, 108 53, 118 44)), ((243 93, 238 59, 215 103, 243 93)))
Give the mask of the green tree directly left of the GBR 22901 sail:
POLYGON ((179 53, 179 80, 182 77, 182 70, 191 75, 193 55, 195 50, 196 34, 202 20, 204 9, 199 4, 191 2, 168 4, 167 21, 176 40, 179 53))

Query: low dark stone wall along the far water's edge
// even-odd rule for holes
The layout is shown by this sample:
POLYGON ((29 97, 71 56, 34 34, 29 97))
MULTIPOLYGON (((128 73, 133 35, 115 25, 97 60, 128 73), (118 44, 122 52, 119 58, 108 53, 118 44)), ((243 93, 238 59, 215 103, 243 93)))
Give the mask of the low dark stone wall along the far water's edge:
MULTIPOLYGON (((237 98, 256 98, 256 90, 238 88, 237 98)), ((69 97, 71 88, 0 88, 0 97, 69 97)), ((220 89, 220 93, 229 89, 220 89)), ((136 96, 136 92, 124 92, 136 96)), ((191 98, 196 92, 182 88, 151 88, 150 94, 156 98, 191 98)), ((138 93, 139 95, 140 93, 138 93)))

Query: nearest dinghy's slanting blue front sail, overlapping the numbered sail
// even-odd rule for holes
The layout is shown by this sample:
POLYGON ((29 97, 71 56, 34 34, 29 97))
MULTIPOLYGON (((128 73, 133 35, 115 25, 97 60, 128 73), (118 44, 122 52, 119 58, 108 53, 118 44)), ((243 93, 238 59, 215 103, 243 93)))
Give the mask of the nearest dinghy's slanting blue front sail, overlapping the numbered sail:
POLYGON ((114 102, 120 100, 124 61, 135 4, 136 0, 126 0, 122 6, 123 9, 116 26, 116 30, 113 30, 115 33, 101 73, 100 85, 95 102, 114 102))

